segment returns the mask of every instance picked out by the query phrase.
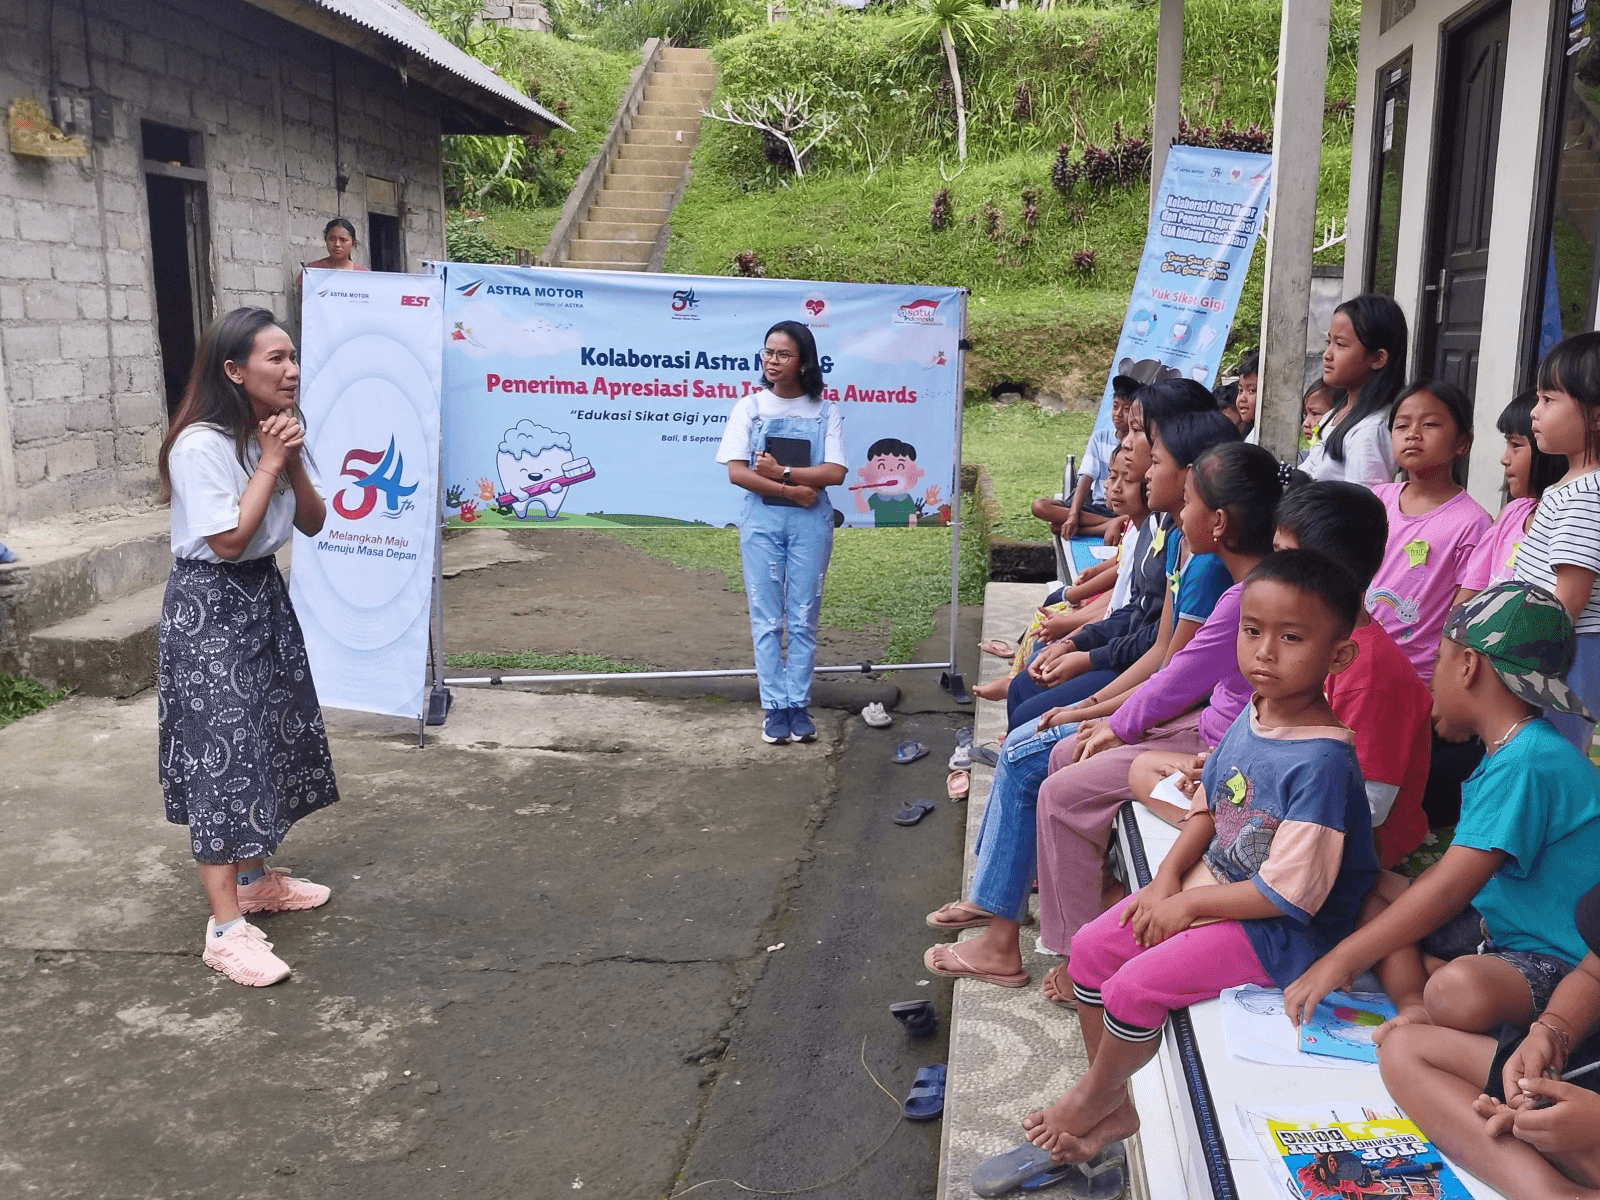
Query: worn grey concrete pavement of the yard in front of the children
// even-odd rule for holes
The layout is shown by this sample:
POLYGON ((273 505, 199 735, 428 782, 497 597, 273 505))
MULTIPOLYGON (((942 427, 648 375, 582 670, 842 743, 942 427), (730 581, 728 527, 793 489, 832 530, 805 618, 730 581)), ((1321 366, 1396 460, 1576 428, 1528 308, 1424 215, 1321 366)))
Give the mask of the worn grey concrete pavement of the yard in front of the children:
POLYGON ((970 717, 907 694, 781 749, 717 696, 459 690, 424 750, 330 714, 342 800, 277 861, 334 899, 261 918, 294 966, 261 990, 198 960, 154 696, 0 731, 0 1194, 931 1197, 938 1126, 890 1133, 861 1069, 904 1094, 944 1054, 883 1010, 949 1011, 922 914, 970 717), (934 755, 888 765, 899 736, 934 755), (893 826, 910 794, 939 811, 893 826))

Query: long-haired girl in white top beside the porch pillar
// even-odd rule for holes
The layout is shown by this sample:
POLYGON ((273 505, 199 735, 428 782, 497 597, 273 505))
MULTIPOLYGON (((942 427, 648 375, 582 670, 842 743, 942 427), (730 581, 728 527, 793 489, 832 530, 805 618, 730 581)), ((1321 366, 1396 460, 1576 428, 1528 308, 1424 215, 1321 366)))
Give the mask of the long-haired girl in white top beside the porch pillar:
POLYGON ((1333 310, 1322 382, 1344 402, 1317 426, 1301 470, 1314 480, 1394 483, 1389 410, 1405 384, 1406 323, 1389 296, 1357 296, 1333 310))

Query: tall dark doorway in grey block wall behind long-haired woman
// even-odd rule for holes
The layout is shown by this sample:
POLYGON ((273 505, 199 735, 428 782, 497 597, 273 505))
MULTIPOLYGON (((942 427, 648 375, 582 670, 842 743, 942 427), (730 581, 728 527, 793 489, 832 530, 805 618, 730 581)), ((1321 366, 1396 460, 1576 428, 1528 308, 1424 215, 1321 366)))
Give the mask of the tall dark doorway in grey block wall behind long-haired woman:
POLYGON ((150 206, 150 274, 166 411, 182 398, 200 333, 211 320, 211 221, 200 134, 142 122, 150 206))

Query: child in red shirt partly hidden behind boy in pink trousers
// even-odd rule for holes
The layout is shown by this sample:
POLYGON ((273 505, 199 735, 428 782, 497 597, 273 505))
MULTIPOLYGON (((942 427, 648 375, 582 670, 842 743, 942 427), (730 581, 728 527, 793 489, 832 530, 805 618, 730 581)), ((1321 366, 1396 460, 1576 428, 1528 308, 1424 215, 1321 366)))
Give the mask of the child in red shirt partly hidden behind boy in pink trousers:
MULTIPOLYGON (((1350 568, 1365 594, 1382 562, 1384 506, 1360 483, 1325 480, 1288 493, 1278 504, 1278 550, 1317 550, 1350 568)), ((1394 638, 1362 611, 1355 619, 1355 662, 1325 685, 1333 715, 1355 736, 1366 802, 1373 813, 1378 861, 1392 867, 1422 845, 1427 818, 1422 795, 1432 749, 1432 707, 1422 680, 1394 638)), ((1133 798, 1174 821, 1170 805, 1152 800, 1157 782, 1174 771, 1200 776, 1198 757, 1149 750, 1128 771, 1133 798)))

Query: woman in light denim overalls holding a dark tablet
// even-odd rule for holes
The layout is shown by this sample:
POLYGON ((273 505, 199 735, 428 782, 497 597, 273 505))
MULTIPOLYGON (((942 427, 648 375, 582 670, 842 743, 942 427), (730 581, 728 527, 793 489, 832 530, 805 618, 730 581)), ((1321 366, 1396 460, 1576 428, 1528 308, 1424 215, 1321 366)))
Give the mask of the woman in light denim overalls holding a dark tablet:
POLYGON ((822 400, 811 330, 800 322, 770 328, 762 378, 766 387, 742 397, 728 414, 717 461, 728 466, 728 482, 749 493, 739 558, 762 690, 762 741, 778 746, 816 739, 806 709, 822 576, 834 552, 827 488, 845 482, 850 459, 838 405, 822 400))

